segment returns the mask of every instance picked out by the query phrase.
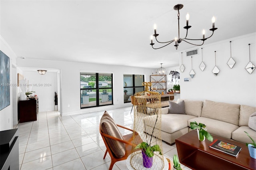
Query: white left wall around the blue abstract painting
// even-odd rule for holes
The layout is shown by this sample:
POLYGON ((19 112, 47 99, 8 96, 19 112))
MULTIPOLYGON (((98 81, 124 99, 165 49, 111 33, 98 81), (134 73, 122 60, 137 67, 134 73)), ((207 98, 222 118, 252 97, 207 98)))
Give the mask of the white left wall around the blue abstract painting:
MULTIPOLYGON (((0 50, 10 58, 10 83, 12 81, 12 65, 16 64, 16 54, 12 51, 11 47, 0 36, 0 50)), ((10 105, 0 111, 0 131, 12 129, 12 88, 10 88, 10 105)))

